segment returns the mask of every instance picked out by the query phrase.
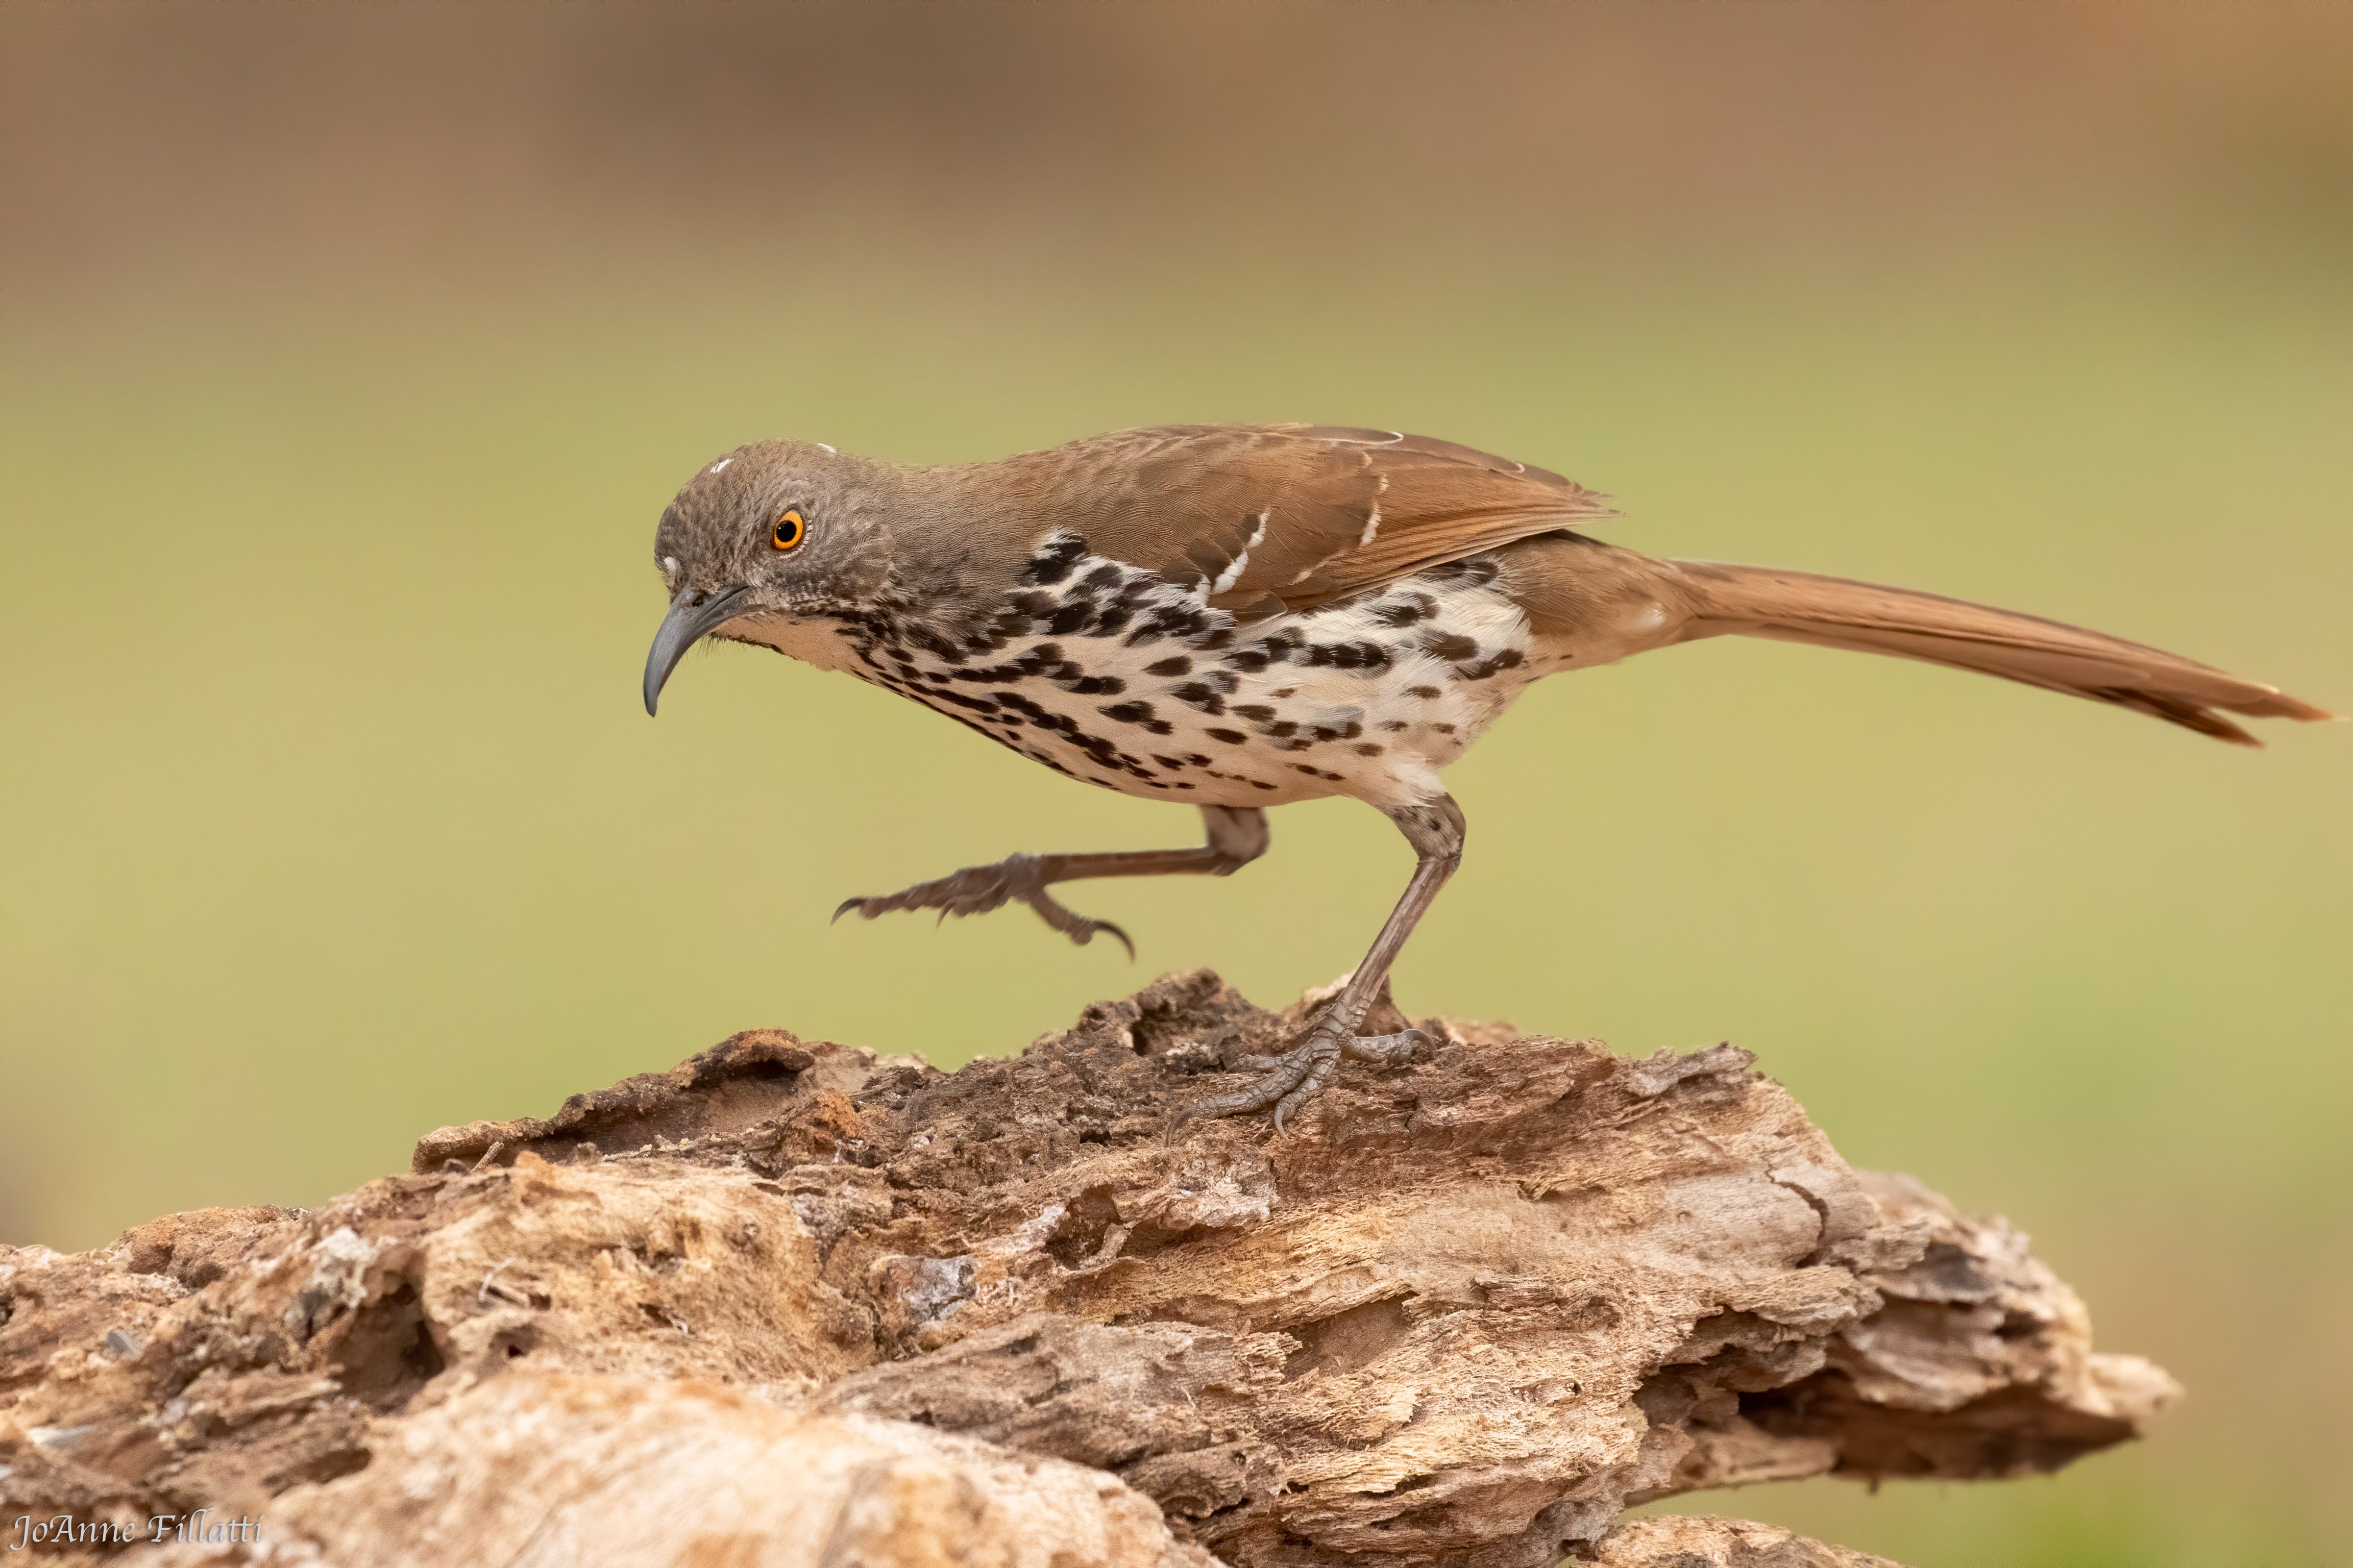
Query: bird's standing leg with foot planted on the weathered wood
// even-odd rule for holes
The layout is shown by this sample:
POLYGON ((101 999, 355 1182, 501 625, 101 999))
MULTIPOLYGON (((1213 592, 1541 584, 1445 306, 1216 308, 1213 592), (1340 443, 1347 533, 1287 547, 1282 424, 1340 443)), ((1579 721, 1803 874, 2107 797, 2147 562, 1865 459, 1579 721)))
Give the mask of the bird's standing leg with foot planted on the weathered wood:
POLYGON ((1355 1030, 1365 1023, 1372 999, 1381 994, 1381 980, 1388 978, 1388 966, 1398 961, 1398 952, 1405 947, 1405 938, 1414 933, 1421 912, 1431 907, 1438 889, 1461 865, 1464 813, 1452 795, 1440 795, 1424 806, 1391 811, 1388 820, 1398 825, 1398 832, 1405 835, 1405 842, 1414 846, 1421 860, 1414 865, 1414 879, 1405 884, 1405 898, 1398 900, 1398 907, 1388 914, 1388 924, 1381 926, 1381 936, 1372 938, 1372 952, 1365 954, 1365 961, 1341 985, 1339 997, 1315 1018, 1315 1027, 1308 1030, 1306 1039, 1282 1056, 1242 1060, 1245 1070, 1259 1074, 1257 1081, 1186 1107, 1186 1121, 1193 1117, 1231 1117, 1273 1105, 1275 1131, 1280 1133, 1282 1119, 1332 1081, 1344 1056, 1360 1063, 1395 1063, 1414 1046, 1428 1041, 1421 1030, 1405 1030, 1400 1034, 1358 1034, 1355 1030))

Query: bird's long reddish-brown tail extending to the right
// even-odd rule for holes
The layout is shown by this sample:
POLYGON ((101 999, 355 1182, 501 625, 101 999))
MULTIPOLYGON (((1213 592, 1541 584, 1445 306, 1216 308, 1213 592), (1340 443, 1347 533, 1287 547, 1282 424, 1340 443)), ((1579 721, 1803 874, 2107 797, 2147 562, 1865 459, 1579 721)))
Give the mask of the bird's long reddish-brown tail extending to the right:
POLYGON ((1812 642, 1826 649, 1925 658, 1955 670, 1979 670, 2094 703, 2134 708, 2167 724, 2195 729, 2233 745, 2261 745, 2217 708, 2266 719, 2329 719, 2334 715, 2282 696, 2278 686, 2238 679, 2139 642, 2087 632, 2080 625, 1967 604, 1908 588, 1769 567, 1671 562, 1697 599, 1689 637, 1739 632, 1812 642))

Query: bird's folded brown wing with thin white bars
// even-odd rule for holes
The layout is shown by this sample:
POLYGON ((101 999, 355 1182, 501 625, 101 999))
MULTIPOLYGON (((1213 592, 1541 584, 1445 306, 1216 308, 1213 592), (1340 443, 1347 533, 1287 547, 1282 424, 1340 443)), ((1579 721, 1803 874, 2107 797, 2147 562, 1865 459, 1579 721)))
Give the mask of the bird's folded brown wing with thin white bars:
POLYGON ((1245 621, 1614 515, 1569 480, 1395 430, 1162 425, 1061 447, 1040 473, 1096 555, 1200 581, 1245 621))

